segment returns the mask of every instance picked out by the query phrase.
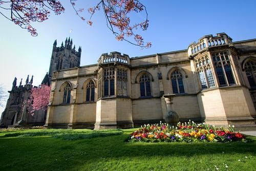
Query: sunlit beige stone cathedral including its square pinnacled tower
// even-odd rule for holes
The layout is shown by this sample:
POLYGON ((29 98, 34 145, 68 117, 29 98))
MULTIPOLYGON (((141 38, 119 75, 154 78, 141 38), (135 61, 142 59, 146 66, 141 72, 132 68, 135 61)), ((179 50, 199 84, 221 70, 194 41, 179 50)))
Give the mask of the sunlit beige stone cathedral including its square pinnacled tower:
POLYGON ((256 39, 206 35, 185 50, 129 57, 102 54, 79 66, 81 48, 56 47, 49 70, 46 127, 129 128, 163 121, 166 104, 180 121, 255 126, 256 39))

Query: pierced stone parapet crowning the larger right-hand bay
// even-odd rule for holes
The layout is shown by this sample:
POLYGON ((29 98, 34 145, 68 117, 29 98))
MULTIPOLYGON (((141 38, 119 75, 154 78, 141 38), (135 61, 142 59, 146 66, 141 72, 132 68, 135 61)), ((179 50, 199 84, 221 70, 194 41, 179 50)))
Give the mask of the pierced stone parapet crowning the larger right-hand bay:
POLYGON ((199 52, 203 52, 208 48, 228 45, 232 43, 232 38, 230 38, 226 33, 217 33, 217 36, 206 35, 198 40, 198 42, 193 42, 188 46, 187 53, 188 56, 194 56, 199 52))

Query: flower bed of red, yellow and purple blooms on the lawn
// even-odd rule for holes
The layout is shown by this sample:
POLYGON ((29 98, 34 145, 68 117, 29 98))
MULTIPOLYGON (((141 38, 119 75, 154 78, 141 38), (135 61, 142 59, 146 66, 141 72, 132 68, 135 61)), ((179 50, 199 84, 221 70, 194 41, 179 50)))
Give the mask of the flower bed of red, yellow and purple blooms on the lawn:
POLYGON ((147 124, 131 134, 132 141, 145 142, 231 142, 246 141, 245 136, 234 132, 234 126, 215 127, 205 123, 185 122, 176 127, 166 123, 147 124))

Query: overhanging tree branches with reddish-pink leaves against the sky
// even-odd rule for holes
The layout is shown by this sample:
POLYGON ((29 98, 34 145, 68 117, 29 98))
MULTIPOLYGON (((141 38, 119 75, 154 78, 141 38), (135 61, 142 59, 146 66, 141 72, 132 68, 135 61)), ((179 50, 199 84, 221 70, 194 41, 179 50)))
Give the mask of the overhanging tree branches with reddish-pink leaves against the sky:
MULTIPOLYGON (((76 8, 78 0, 70 0, 75 13, 82 19, 83 8, 76 8)), ((145 43, 142 36, 136 34, 134 30, 141 28, 146 30, 148 27, 146 7, 138 0, 101 0, 95 7, 89 8, 90 19, 87 23, 91 26, 92 17, 96 11, 102 11, 106 18, 106 25, 115 35, 117 40, 125 40, 133 45, 150 48, 151 42, 145 43), (145 19, 142 22, 132 24, 131 16, 134 13, 144 11, 145 19), (130 37, 134 38, 134 41, 130 37)), ((36 29, 31 26, 31 22, 44 22, 50 16, 50 12, 56 15, 65 11, 60 1, 57 0, 0 0, 0 14, 9 19, 14 24, 23 29, 27 29, 31 35, 36 36, 36 29)))

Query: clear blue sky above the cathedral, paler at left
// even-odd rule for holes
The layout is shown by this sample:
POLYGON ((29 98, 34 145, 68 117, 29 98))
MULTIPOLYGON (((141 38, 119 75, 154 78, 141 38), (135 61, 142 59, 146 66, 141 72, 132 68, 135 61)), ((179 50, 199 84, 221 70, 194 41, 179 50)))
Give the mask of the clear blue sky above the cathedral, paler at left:
MULTIPOLYGON (((25 82, 27 75, 34 75, 34 85, 40 84, 49 70, 52 45, 57 46, 66 37, 73 38, 73 45, 82 47, 81 66, 96 63, 102 53, 118 51, 130 57, 183 50, 191 42, 208 34, 225 32, 233 41, 256 38, 256 1, 141 1, 147 8, 150 26, 142 34, 151 41, 150 49, 143 49, 117 41, 106 28, 103 13, 93 17, 93 26, 82 22, 64 1, 65 13, 51 14, 44 23, 34 24, 38 36, 32 37, 24 29, 0 16, 0 84, 10 90, 14 77, 25 82), (73 32, 70 33, 70 30, 73 32)), ((77 6, 88 9, 96 0, 79 0, 77 6)), ((86 20, 90 17, 86 12, 86 20)), ((142 18, 138 14, 135 19, 142 18)), ((0 112, 3 109, 0 109, 0 112)))

